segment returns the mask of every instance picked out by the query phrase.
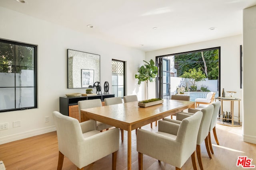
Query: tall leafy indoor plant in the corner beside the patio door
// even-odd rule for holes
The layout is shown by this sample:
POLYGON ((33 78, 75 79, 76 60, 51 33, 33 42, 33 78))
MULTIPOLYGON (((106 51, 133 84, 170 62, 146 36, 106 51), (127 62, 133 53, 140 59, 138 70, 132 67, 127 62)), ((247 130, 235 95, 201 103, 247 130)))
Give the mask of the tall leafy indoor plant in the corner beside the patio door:
MULTIPOLYGON (((144 60, 143 60, 144 61, 144 60)), ((155 66, 154 61, 151 59, 150 62, 144 61, 146 64, 140 67, 140 70, 138 71, 139 74, 135 74, 135 78, 138 78, 138 84, 141 82, 146 82, 147 85, 147 98, 148 98, 148 80, 150 82, 154 81, 154 78, 157 75, 157 66, 155 66)))

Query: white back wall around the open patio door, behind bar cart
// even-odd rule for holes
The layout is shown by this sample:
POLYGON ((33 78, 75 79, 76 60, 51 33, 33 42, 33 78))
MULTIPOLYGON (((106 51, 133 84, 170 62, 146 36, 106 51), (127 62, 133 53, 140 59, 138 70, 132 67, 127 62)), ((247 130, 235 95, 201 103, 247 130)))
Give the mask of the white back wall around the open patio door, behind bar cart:
MULTIPOLYGON (((214 39, 211 41, 146 52, 146 60, 153 59, 155 61, 156 56, 220 47, 220 89, 222 90, 222 88, 224 88, 225 91, 236 91, 235 96, 242 99, 242 89, 240 89, 240 45, 242 45, 242 35, 236 35, 222 39, 214 39)), ((156 84, 150 83, 149 89, 149 98, 154 98, 156 84)), ((230 110, 230 102, 226 104, 224 103, 223 110, 230 110)), ((237 110, 238 103, 234 102, 234 115, 236 116, 238 116, 237 110)), ((240 103, 240 115, 242 116, 242 102, 240 103)))

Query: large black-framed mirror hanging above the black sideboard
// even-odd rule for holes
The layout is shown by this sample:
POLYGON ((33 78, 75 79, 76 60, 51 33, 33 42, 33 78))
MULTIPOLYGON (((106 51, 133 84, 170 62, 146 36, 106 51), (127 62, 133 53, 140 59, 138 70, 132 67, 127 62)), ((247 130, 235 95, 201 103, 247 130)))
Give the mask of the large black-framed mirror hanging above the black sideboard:
POLYGON ((68 49, 68 88, 100 82, 100 55, 68 49))

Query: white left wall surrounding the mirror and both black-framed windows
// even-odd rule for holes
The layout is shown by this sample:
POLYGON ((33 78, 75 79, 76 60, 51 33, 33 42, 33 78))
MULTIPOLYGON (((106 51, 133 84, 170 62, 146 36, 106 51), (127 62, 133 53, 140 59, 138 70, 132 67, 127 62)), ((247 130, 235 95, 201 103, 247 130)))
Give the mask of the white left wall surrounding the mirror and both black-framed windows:
POLYGON ((52 111, 59 111, 59 97, 85 93, 85 89, 67 88, 67 49, 100 55, 102 85, 108 81, 111 86, 112 59, 127 61, 127 94, 144 99, 144 86, 138 86, 134 78, 145 60, 144 52, 2 7, 0 23, 0 38, 38 45, 38 108, 0 113, 0 123, 9 123, 7 130, 0 131, 0 144, 54 131, 52 111), (50 122, 44 122, 45 116, 50 117, 50 122), (21 127, 13 128, 13 121, 21 121, 21 127))

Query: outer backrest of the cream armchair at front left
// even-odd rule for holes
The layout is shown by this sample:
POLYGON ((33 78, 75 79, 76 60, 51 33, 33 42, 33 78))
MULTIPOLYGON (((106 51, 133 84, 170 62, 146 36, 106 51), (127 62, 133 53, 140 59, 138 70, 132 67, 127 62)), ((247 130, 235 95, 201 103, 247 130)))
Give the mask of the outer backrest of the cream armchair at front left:
MULTIPOLYGON (((62 115, 58 111, 52 113, 56 125, 58 147, 64 155, 76 152, 76 145, 83 141, 82 129, 77 119, 62 115)), ((95 125, 96 126, 96 125, 95 125)))

